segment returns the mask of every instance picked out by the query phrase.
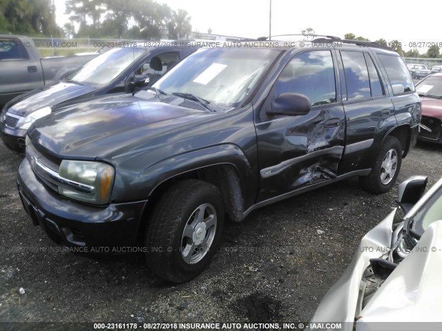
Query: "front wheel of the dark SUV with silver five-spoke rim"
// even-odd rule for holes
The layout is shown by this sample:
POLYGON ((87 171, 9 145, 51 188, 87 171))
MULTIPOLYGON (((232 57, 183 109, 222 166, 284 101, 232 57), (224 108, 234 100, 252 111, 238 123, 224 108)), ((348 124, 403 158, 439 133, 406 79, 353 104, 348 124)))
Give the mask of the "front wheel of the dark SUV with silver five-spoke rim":
POLYGON ((198 179, 177 183, 163 194, 148 221, 148 268, 173 283, 193 279, 210 263, 223 224, 224 206, 215 185, 198 179))

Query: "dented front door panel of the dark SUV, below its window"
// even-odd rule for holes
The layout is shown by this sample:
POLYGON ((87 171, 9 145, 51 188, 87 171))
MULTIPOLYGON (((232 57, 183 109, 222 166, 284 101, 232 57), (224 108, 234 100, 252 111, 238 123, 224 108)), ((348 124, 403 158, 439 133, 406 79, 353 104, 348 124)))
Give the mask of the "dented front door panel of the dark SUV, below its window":
POLYGON ((343 106, 256 125, 260 165, 258 201, 334 179, 344 150, 343 106))

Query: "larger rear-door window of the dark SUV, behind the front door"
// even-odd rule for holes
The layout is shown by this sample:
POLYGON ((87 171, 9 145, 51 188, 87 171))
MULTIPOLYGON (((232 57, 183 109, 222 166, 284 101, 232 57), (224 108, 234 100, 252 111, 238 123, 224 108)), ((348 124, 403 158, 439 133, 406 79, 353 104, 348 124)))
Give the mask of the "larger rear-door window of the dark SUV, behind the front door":
POLYGON ((347 83, 347 99, 357 100, 369 98, 370 81, 363 52, 340 52, 345 69, 347 83))

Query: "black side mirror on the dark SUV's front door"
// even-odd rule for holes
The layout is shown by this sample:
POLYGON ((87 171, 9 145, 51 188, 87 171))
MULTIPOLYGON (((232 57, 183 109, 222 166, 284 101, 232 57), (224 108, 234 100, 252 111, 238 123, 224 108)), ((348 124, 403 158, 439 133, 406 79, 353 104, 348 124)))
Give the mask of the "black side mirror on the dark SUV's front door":
POLYGON ((299 116, 310 112, 310 99, 304 94, 286 92, 278 95, 275 101, 271 101, 269 115, 299 116))

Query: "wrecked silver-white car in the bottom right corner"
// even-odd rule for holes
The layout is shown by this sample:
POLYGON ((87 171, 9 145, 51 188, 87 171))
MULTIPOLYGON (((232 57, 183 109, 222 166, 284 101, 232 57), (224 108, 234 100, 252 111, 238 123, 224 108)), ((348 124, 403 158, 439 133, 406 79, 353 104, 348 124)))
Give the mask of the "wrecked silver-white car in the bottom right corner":
POLYGON ((399 185, 401 210, 394 208, 365 234, 311 323, 342 323, 340 330, 440 330, 442 179, 423 195, 426 183, 427 177, 414 176, 399 185))

